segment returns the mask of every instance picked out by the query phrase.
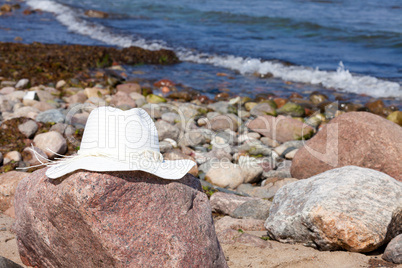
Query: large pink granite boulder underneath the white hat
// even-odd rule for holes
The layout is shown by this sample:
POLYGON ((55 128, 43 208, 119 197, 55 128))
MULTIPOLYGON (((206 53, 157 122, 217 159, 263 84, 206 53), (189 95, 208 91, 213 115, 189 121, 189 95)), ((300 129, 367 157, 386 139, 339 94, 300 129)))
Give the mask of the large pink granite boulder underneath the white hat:
POLYGON ((15 196, 21 259, 36 267, 227 267, 192 175, 38 170, 15 196))

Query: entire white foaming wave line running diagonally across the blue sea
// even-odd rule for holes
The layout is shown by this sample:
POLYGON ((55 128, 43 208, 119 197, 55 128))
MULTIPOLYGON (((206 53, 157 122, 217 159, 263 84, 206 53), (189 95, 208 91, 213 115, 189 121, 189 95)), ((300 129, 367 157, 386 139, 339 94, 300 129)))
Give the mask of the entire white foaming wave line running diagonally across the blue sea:
POLYGON ((131 35, 116 34, 112 30, 94 22, 85 20, 82 12, 51 0, 28 0, 33 9, 41 9, 54 13, 56 19, 71 32, 89 36, 94 40, 119 47, 137 46, 148 50, 162 48, 174 50, 181 61, 211 64, 240 72, 241 74, 272 74, 285 81, 322 85, 340 91, 367 94, 373 97, 396 97, 402 99, 402 88, 399 83, 378 79, 371 76, 355 75, 346 70, 340 62, 336 71, 324 71, 305 66, 289 66, 277 61, 237 56, 219 56, 198 53, 185 48, 169 48, 163 41, 135 39, 131 35))

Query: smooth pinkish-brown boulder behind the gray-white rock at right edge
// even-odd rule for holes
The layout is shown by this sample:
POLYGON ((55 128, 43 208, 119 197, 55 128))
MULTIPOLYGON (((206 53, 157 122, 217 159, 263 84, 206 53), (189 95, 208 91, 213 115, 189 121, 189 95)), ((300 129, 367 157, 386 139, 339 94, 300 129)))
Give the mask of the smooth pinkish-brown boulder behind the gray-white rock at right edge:
POLYGON ((331 120, 292 161, 292 177, 305 179, 343 166, 371 168, 402 181, 402 127, 367 112, 331 120))

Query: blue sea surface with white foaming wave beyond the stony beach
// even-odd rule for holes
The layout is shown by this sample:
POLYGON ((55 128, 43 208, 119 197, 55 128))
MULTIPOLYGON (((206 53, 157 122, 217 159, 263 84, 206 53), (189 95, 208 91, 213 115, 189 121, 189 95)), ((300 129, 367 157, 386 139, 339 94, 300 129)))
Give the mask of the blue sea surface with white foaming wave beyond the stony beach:
MULTIPOLYGON (((5 2, 0 0, 0 3, 5 2)), ((0 41, 174 50, 182 64, 132 67, 203 92, 313 90, 402 99, 400 0, 26 0, 0 17, 0 41), (23 8, 26 8, 26 6, 23 8), (109 14, 85 16, 89 9, 109 14), (217 76, 224 72, 226 77, 217 76), (230 77, 230 79, 228 78, 230 77)), ((369 97, 364 97, 369 96, 369 97)), ((399 105, 398 105, 399 106, 399 105)))

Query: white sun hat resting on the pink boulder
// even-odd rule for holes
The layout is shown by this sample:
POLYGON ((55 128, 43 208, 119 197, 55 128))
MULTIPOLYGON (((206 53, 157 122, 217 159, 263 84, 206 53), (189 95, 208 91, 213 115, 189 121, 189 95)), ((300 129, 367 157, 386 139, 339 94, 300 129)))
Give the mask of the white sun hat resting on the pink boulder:
POLYGON ((163 160, 151 117, 141 108, 122 111, 94 109, 88 117, 77 155, 46 163, 46 175, 56 179, 73 171, 141 170, 158 177, 181 179, 195 165, 191 160, 163 160))

